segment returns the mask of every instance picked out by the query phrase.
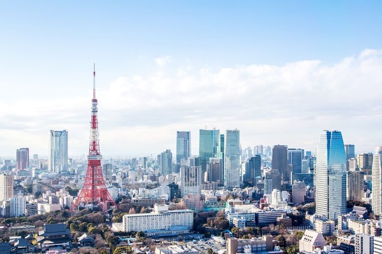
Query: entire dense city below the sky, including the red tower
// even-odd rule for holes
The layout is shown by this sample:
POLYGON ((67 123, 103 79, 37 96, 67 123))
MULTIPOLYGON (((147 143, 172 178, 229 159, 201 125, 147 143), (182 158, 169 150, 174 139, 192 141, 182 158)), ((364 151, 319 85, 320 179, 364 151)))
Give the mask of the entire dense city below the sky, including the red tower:
POLYGON ((93 79, 87 158, 50 130, 47 159, 3 160, 3 253, 382 253, 382 146, 323 131, 314 152, 242 149, 237 129, 201 129, 198 155, 178 131, 174 154, 106 160, 93 79))

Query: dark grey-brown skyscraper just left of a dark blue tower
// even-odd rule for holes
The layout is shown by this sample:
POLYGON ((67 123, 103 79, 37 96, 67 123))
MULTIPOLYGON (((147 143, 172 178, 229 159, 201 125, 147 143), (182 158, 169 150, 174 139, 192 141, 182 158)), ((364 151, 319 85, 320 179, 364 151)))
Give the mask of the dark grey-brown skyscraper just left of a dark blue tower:
POLYGON ((288 146, 275 145, 272 149, 272 169, 277 169, 282 177, 282 185, 289 182, 288 146))

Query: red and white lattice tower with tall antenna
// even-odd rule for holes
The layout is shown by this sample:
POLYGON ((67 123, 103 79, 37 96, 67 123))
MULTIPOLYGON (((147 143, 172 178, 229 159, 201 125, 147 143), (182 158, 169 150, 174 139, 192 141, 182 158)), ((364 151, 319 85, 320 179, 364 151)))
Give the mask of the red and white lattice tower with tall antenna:
POLYGON ((92 120, 90 122, 88 169, 86 170, 84 186, 83 188, 81 188, 74 205, 71 207, 71 210, 76 209, 79 205, 86 204, 98 204, 99 208, 103 211, 107 210, 108 204, 112 206, 117 206, 106 188, 102 175, 102 155, 99 152, 99 135, 97 119, 98 101, 95 97, 95 65, 93 76, 92 120))

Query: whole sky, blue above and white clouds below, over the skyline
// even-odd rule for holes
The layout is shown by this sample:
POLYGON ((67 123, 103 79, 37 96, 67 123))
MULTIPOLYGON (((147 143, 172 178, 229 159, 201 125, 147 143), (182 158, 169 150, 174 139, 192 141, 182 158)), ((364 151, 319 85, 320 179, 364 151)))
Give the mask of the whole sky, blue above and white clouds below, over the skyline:
POLYGON ((325 129, 357 153, 382 144, 381 3, 338 2, 329 13, 328 3, 203 4, 5 3, 0 156, 19 147, 47 156, 49 129, 70 132, 69 156, 87 153, 94 61, 105 156, 175 152, 176 131, 192 133, 198 154, 205 125, 240 130, 242 147, 314 151, 325 129))

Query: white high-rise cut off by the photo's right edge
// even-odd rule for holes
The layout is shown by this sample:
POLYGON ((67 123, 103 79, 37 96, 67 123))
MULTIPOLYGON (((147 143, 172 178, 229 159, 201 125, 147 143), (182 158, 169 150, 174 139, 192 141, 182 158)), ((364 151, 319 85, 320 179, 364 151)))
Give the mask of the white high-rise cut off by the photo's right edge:
POLYGON ((373 167, 372 167, 372 182, 373 182, 373 192, 371 199, 371 208, 373 213, 381 217, 382 215, 382 146, 377 146, 375 148, 373 156, 373 167))

